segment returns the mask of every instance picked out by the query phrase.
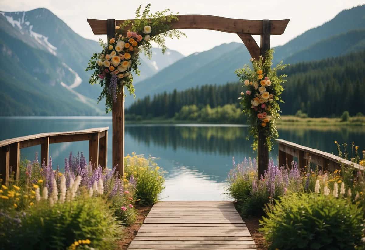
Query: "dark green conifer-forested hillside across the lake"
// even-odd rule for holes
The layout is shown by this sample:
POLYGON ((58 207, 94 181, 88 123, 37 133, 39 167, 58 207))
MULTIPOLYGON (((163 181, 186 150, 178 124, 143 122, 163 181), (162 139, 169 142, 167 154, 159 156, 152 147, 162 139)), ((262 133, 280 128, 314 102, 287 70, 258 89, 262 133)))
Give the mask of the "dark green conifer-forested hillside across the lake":
MULTIPOLYGON (((346 110, 351 115, 365 113, 364 58, 365 51, 362 51, 288 66, 282 72, 289 75, 284 85, 285 103, 281 104, 283 114, 294 115, 298 110, 310 117, 339 116, 346 110)), ((130 119, 161 116, 184 119, 186 115, 182 116, 179 112, 198 112, 206 105, 210 108, 227 104, 239 107, 237 98, 243 90, 242 84, 236 82, 164 92, 153 98, 147 96, 138 100, 126 110, 126 114, 130 119), (196 108, 188 105, 195 105, 196 108)), ((216 111, 219 112, 219 109, 216 111)))

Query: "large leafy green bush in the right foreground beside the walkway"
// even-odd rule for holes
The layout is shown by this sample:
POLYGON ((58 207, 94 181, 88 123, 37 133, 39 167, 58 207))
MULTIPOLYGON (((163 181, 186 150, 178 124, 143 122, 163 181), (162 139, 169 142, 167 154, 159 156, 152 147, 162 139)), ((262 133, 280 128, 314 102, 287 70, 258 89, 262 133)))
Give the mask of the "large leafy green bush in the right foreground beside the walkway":
POLYGON ((361 244, 363 213, 332 195, 284 196, 260 221, 269 249, 354 249, 361 244))

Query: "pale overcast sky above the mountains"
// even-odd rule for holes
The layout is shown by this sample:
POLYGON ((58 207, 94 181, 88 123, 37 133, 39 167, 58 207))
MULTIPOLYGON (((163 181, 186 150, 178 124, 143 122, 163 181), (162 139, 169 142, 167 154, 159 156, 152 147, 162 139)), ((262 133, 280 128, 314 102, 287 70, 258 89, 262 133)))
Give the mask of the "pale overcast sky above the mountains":
MULTIPOLYGON (((139 4, 151 3, 153 12, 170 8, 179 14, 202 14, 237 19, 281 20, 291 19, 283 35, 271 36, 271 47, 283 45, 306 30, 320 26, 331 20, 343 9, 361 5, 365 0, 150 0, 150 1, 110 1, 110 0, 0 0, 1 11, 28 11, 44 7, 50 9, 69 27, 84 38, 99 40, 106 35, 94 35, 87 19, 134 19, 139 4)), ((242 42, 237 34, 187 29, 188 38, 166 41, 168 48, 183 55, 209 50, 222 43, 242 42)), ((254 36, 260 44, 260 36, 254 36)))

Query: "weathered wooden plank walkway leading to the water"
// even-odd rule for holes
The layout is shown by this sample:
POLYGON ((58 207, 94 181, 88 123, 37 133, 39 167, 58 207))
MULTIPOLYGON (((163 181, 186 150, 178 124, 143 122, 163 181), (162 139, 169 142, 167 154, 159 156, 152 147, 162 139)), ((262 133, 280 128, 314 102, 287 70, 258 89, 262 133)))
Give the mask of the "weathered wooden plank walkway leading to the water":
POLYGON ((158 202, 128 249, 256 249, 232 202, 158 202))

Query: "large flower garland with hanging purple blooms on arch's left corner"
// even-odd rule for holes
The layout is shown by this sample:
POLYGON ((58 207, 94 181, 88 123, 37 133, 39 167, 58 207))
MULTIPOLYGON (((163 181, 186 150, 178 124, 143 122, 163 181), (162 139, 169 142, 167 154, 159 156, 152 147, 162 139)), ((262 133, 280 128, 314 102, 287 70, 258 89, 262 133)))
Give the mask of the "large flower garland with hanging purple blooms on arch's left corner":
POLYGON ((151 41, 166 51, 165 38, 177 38, 186 35, 177 30, 170 30, 171 22, 178 18, 171 12, 165 15, 170 9, 157 11, 150 14, 151 4, 147 4, 141 13, 141 5, 136 11, 134 22, 127 20, 115 27, 115 37, 108 38, 108 43, 100 40, 103 47, 101 53, 93 54, 89 60, 86 71, 93 70, 89 80, 90 84, 99 83, 103 90, 98 97, 98 103, 105 97, 105 112, 112 109, 112 103, 116 102, 118 93, 124 86, 130 94, 134 94, 132 71, 139 75, 138 65, 139 52, 143 50, 145 55, 152 56, 151 41))

